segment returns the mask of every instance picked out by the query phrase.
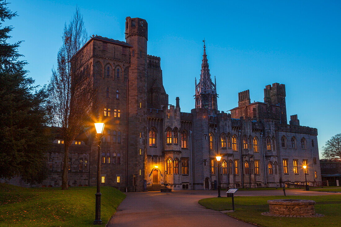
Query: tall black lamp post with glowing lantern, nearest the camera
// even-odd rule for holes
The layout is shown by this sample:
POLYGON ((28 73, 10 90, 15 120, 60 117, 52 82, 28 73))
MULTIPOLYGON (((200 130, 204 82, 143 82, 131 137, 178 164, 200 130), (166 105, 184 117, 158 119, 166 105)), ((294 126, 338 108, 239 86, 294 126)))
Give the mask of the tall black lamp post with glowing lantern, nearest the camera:
POLYGON ((96 196, 96 206, 95 206, 95 221, 93 221, 94 225, 102 225, 101 220, 101 139, 103 137, 103 129, 104 123, 95 123, 96 128, 96 138, 97 141, 97 192, 96 196))

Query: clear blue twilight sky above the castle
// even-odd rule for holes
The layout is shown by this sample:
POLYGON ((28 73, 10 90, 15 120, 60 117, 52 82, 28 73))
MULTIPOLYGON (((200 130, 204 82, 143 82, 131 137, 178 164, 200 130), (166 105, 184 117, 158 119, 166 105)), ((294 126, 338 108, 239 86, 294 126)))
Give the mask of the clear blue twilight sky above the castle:
POLYGON ((318 128, 321 147, 341 133, 340 1, 90 1, 12 0, 18 17, 12 42, 36 84, 47 84, 61 33, 76 5, 89 35, 124 41, 125 17, 148 22, 148 54, 161 57, 169 103, 180 97, 182 111, 194 107, 194 77, 199 77, 203 42, 218 107, 237 106, 238 92, 250 89, 251 102, 263 101, 263 88, 286 85, 287 116, 318 128))

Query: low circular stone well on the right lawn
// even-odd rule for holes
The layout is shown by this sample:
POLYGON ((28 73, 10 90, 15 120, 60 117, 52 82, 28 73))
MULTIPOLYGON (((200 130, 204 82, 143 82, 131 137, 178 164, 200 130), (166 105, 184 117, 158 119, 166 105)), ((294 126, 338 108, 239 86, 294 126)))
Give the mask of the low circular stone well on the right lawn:
MULTIPOLYGON (((268 200, 270 214, 274 215, 315 215, 315 201, 306 199, 274 199, 268 200)), ((266 212, 268 213, 268 212, 266 212)))

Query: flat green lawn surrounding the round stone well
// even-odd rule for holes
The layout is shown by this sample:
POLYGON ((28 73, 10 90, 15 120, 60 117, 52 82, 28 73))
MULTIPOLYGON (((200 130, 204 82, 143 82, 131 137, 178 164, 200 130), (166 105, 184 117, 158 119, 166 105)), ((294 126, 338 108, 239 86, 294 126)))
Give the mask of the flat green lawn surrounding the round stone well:
MULTIPOLYGON (((227 213, 233 217, 263 227, 302 227, 302 226, 341 226, 341 195, 324 196, 236 196, 235 212, 227 213), (273 217, 261 215, 269 211, 269 199, 311 199, 316 201, 315 212, 324 217, 273 217)), ((213 210, 231 210, 231 197, 207 198, 199 204, 213 210)))

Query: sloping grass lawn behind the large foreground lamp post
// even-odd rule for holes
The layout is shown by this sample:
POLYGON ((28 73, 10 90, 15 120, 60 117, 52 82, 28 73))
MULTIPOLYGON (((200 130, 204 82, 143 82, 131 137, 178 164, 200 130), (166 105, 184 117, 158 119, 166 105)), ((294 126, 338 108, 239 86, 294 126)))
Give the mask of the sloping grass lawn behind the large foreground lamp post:
MULTIPOLYGON (((0 226, 92 226, 96 187, 23 188, 0 184, 0 226)), ((101 187, 103 226, 125 194, 101 187)))

